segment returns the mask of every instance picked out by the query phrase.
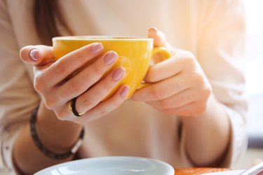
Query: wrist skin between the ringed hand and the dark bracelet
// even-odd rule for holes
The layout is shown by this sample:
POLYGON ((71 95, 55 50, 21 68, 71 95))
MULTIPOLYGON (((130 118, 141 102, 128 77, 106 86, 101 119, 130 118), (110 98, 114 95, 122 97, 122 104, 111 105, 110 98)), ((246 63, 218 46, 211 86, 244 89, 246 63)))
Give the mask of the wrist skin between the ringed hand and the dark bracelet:
POLYGON ((46 148, 54 153, 65 153, 79 141, 83 127, 59 120, 46 106, 39 106, 35 128, 39 140, 46 148))

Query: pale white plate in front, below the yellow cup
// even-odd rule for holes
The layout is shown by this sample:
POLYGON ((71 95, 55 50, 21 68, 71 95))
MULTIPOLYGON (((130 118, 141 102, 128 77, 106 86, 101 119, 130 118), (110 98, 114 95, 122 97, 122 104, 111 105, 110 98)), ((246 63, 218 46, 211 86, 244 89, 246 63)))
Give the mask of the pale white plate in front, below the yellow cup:
POLYGON ((173 175, 166 162, 137 157, 100 157, 74 160, 54 165, 34 175, 173 175))

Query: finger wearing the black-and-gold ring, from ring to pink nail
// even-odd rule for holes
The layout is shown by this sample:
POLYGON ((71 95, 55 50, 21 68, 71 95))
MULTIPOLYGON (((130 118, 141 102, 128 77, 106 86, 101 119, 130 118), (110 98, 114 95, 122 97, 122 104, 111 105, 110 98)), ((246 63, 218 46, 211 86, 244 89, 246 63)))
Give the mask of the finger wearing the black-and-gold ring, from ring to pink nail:
POLYGON ((114 90, 114 87, 118 85, 121 79, 125 76, 125 73, 126 71, 122 67, 117 67, 114 69, 99 83, 78 97, 76 100, 76 110, 88 111, 99 104, 102 99, 107 97, 107 95, 112 92, 112 90, 114 90))

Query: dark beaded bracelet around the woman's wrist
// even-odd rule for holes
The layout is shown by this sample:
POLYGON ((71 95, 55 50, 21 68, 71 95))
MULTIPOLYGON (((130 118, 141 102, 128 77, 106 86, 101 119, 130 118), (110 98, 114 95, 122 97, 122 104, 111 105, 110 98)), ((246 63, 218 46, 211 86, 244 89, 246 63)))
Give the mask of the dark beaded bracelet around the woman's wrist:
POLYGON ((75 144, 75 146, 70 150, 67 151, 67 153, 62 153, 62 154, 57 154, 57 153, 53 153, 52 151, 48 150, 48 148, 46 148, 45 146, 43 146, 43 144, 41 143, 37 133, 36 133, 36 114, 38 111, 39 107, 37 107, 36 109, 34 109, 31 119, 30 119, 30 133, 32 136, 32 139, 34 140, 34 143, 36 144, 36 146, 39 148, 39 150, 44 154, 47 155, 49 158, 53 158, 56 160, 62 160, 65 158, 69 158, 71 155, 74 155, 74 153, 76 153, 76 151, 78 151, 79 146, 81 146, 81 143, 83 141, 83 137, 84 137, 84 128, 82 128, 81 130, 81 134, 79 136, 79 141, 75 144))

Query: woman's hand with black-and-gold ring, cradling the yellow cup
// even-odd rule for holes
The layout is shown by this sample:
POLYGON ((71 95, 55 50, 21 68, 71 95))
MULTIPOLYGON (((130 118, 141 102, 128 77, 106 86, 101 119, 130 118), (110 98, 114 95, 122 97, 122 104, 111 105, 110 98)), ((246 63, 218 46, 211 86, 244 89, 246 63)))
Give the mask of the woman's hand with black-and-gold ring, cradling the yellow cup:
POLYGON ((102 50, 101 43, 92 43, 55 61, 52 47, 28 45, 20 50, 20 57, 23 62, 34 66, 34 87, 46 107, 53 110, 60 120, 83 124, 116 109, 129 90, 128 85, 121 85, 112 97, 102 102, 126 73, 123 67, 117 67, 102 78, 118 58, 114 51, 97 57, 102 50), (90 60, 93 61, 88 66, 68 78, 90 60), (74 97, 77 97, 76 111, 86 111, 79 118, 69 111, 69 103, 74 97))

